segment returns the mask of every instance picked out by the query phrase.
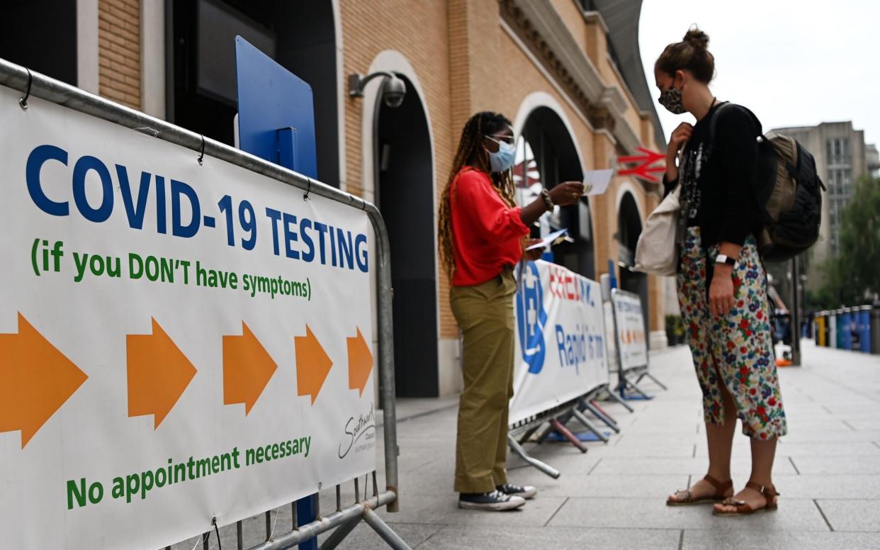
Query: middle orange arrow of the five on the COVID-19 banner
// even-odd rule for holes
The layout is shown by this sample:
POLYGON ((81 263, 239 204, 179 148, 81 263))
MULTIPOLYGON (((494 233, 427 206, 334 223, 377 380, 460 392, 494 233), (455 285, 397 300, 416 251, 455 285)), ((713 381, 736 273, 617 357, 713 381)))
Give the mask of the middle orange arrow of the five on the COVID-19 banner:
POLYGON ((260 399, 278 365, 245 321, 241 336, 223 337, 223 404, 245 404, 245 415, 260 399))

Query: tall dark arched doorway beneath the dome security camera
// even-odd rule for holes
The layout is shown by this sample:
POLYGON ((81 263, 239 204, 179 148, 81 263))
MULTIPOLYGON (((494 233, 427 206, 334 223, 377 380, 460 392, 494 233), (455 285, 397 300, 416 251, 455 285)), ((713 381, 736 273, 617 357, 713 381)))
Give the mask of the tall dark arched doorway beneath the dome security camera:
POLYGON ((394 370, 401 397, 440 394, 437 361, 434 163, 422 99, 406 76, 398 107, 378 94, 373 141, 376 202, 391 241, 394 370))

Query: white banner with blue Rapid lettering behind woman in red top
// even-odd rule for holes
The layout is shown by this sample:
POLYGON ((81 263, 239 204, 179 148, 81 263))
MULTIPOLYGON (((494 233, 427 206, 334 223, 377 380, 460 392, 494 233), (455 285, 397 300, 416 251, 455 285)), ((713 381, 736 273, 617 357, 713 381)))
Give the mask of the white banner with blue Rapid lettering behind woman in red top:
POLYGON ((608 383, 598 282, 546 261, 519 280, 511 425, 608 383))

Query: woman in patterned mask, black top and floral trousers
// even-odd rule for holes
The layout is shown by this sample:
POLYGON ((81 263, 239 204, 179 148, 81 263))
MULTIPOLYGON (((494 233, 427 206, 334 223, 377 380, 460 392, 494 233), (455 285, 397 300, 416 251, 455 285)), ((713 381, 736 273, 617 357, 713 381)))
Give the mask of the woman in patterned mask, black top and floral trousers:
POLYGON ((693 126, 683 122, 672 133, 664 185, 668 193, 680 183, 686 204, 678 303, 703 393, 709 454, 706 477, 667 503, 715 502, 715 515, 734 516, 776 510, 773 462, 786 418, 770 336, 766 274, 755 241, 761 231, 753 188, 760 122, 739 106, 719 111, 721 103, 708 87, 715 58, 707 46, 706 33, 693 28, 664 49, 654 69, 660 103, 673 114, 688 112, 697 120, 693 126), (712 143, 709 130, 715 118, 712 143), (730 450, 737 417, 751 438, 752 475, 734 495, 730 450))

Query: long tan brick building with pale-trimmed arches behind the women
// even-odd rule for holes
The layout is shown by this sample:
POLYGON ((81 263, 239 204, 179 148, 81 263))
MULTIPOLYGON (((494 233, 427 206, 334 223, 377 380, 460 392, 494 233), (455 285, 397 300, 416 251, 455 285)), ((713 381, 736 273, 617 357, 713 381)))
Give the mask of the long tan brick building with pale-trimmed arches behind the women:
MULTIPOLYGON (((546 187, 640 146, 664 150, 640 11, 641 0, 32 0, 4 6, 15 23, 0 57, 229 144, 235 35, 311 84, 319 179, 375 202, 392 238, 398 390, 435 396, 461 384, 435 229, 461 128, 481 110, 507 114, 519 160, 546 187), (349 75, 375 71, 407 84, 401 106, 381 100, 381 79, 349 95, 349 75)), ((623 266, 654 346, 665 345, 668 281, 627 266, 660 198, 616 178, 546 220, 574 237, 557 262, 594 279, 607 260, 623 266)))

